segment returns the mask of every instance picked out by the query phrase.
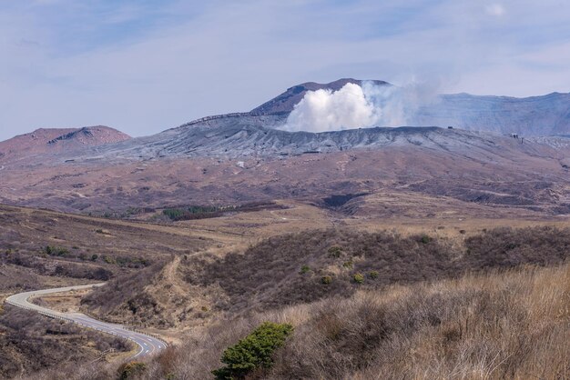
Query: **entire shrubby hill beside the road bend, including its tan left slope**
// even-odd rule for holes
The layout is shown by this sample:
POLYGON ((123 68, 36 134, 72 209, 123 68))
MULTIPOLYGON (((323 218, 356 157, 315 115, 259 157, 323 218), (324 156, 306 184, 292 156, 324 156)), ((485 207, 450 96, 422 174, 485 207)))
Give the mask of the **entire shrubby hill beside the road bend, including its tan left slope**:
POLYGON ((159 263, 117 276, 87 295, 83 305, 110 322, 202 325, 222 315, 348 297, 359 289, 516 265, 557 265, 570 256, 569 247, 570 229, 552 226, 495 228, 463 240, 393 231, 308 231, 270 237, 245 253, 186 256, 171 265, 174 275, 159 263))

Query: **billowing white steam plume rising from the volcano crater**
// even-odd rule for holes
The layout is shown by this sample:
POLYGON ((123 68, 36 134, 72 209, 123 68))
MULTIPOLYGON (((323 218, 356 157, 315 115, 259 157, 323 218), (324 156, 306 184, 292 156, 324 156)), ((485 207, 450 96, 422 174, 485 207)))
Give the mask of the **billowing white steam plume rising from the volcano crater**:
POLYGON ((326 132, 370 126, 410 125, 417 109, 436 99, 432 85, 402 87, 348 83, 340 90, 308 91, 280 129, 326 132))

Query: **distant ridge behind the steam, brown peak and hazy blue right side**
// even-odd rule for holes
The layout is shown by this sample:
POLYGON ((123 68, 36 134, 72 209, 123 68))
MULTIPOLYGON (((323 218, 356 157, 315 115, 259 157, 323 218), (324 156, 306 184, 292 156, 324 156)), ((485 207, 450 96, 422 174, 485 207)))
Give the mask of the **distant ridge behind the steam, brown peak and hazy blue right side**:
MULTIPOLYGON (((304 83, 290 87, 283 94, 254 108, 250 114, 281 114, 286 118, 307 91, 319 89, 337 91, 347 83, 362 85, 364 82, 381 86, 390 85, 383 81, 362 81, 351 78, 339 79, 329 84, 304 83)), ((390 104, 391 99, 385 101, 390 104)), ((404 103, 401 106, 409 109, 406 111, 407 125, 443 127, 453 125, 468 130, 507 135, 516 133, 522 136, 570 134, 570 94, 553 93, 524 98, 469 94, 438 95, 429 104, 404 103)))

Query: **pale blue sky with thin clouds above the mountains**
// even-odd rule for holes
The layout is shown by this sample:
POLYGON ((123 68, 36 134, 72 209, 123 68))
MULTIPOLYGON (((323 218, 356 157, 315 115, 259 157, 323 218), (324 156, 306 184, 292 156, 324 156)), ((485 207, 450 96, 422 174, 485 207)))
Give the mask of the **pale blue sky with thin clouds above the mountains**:
POLYGON ((570 92, 567 0, 0 0, 0 140, 151 135, 342 77, 570 92))

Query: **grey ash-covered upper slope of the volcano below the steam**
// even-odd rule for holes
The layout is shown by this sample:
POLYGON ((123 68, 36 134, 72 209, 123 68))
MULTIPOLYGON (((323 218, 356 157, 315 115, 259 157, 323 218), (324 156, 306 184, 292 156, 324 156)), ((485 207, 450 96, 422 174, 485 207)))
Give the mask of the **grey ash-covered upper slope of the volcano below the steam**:
MULTIPOLYGON (((276 116, 279 118, 279 116, 276 116)), ((570 153, 570 139, 549 137, 538 140, 513 138, 466 131, 430 127, 375 127, 336 132, 286 132, 250 122, 258 116, 228 116, 196 125, 169 130, 164 133, 133 139, 120 145, 92 148, 98 160, 111 157, 123 159, 150 159, 160 157, 283 157, 350 151, 352 149, 382 149, 386 146, 422 146, 436 151, 464 156, 504 155, 565 155, 570 153), (558 146, 555 149, 553 146, 558 146)), ((266 123, 277 122, 275 119, 266 123)), ((76 160, 96 157, 77 155, 76 160)))

